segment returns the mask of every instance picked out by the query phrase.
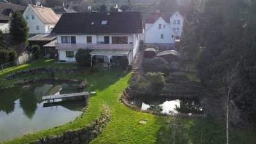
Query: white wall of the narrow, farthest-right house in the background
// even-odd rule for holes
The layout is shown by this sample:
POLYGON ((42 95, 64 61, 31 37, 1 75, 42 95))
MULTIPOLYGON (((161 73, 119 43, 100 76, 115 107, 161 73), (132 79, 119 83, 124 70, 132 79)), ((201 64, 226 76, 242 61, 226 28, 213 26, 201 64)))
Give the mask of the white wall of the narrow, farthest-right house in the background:
POLYGON ((170 27, 173 29, 177 29, 179 28, 179 31, 175 30, 175 33, 177 33, 177 36, 181 36, 182 35, 182 29, 183 29, 183 24, 184 24, 184 19, 182 17, 182 15, 180 15, 179 12, 174 13, 174 15, 172 15, 172 17, 170 18, 170 27), (176 24, 173 24, 173 21, 176 21, 176 24), (177 24, 177 21, 180 20, 180 24, 177 24))

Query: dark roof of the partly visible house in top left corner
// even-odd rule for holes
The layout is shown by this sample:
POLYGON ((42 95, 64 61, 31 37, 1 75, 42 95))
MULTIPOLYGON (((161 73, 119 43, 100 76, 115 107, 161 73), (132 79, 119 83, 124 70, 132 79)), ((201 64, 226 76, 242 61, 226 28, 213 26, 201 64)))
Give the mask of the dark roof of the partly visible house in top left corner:
POLYGON ((7 20, 8 22, 10 19, 10 13, 15 12, 16 10, 24 12, 25 6, 0 2, 0 20, 7 20))

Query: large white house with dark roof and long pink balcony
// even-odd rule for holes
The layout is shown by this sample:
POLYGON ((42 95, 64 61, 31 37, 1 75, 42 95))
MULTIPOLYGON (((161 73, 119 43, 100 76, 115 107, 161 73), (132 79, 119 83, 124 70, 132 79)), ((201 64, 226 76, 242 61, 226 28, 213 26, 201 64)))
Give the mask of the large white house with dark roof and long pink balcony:
POLYGON ((63 13, 52 33, 60 61, 76 61, 78 49, 90 49, 93 61, 116 63, 127 56, 131 65, 141 31, 140 12, 91 12, 63 13))

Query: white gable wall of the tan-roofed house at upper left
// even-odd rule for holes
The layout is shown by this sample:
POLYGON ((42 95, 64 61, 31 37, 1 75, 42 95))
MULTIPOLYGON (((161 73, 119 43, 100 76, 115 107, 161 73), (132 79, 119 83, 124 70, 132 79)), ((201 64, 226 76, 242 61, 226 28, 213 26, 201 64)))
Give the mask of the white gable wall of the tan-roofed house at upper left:
POLYGON ((37 33, 51 33, 51 31, 45 31, 45 24, 40 20, 35 12, 27 6, 23 13, 24 19, 28 23, 29 34, 37 34, 37 33), (32 15, 34 15, 35 19, 32 19, 32 15), (28 19, 26 19, 28 16, 28 19), (36 30, 36 26, 39 26, 39 30, 36 30))

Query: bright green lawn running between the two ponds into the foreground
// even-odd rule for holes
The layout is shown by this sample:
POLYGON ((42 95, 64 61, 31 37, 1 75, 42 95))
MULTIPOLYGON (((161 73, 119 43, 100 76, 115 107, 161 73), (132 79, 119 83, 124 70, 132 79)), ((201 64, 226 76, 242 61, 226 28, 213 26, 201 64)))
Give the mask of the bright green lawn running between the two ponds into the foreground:
MULTIPOLYGON (((41 61, 42 65, 54 65, 53 61, 41 61)), ((39 67, 42 65, 20 66, 24 68, 39 67)), ((68 67, 68 66, 67 66, 68 67)), ((15 69, 18 70, 18 69, 15 69)), ((9 73, 10 71, 6 72, 9 73)), ((1 73, 6 75, 5 73, 1 73)), ((60 134, 69 129, 76 129, 90 124, 102 111, 102 104, 106 103, 111 108, 111 121, 102 134, 92 143, 225 143, 225 124, 204 118, 177 118, 175 116, 158 116, 140 111, 133 111, 125 107, 118 99, 120 93, 129 86, 131 72, 120 70, 100 71, 97 73, 81 72, 66 74, 65 77, 87 79, 90 86, 87 90, 94 90, 97 95, 89 97, 88 109, 74 122, 61 125, 60 127, 27 134, 5 143, 29 143, 43 136, 60 134), (91 85, 93 82, 96 84, 91 85), (139 124, 140 120, 146 120, 147 124, 139 124)), ((56 74, 56 77, 63 77, 56 74)), ((27 76, 28 77, 28 76, 27 76)), ((0 96, 1 97, 1 96, 0 96)), ((249 130, 232 131, 230 143, 255 143, 256 134, 249 130)))

